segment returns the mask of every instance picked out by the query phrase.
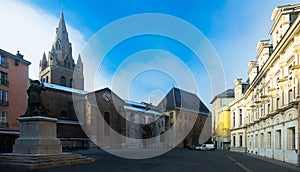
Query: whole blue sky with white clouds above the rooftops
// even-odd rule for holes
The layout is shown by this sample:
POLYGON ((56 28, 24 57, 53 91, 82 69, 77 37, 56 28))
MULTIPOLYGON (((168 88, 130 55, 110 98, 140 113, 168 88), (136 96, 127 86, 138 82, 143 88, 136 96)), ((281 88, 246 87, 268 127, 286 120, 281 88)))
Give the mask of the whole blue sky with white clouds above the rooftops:
POLYGON ((12 54, 20 50, 32 63, 30 78, 37 79, 39 61, 44 52, 50 51, 63 9, 75 61, 79 53, 86 55, 82 59, 88 75, 85 76, 88 91, 110 87, 124 99, 157 104, 171 87, 176 86, 197 94, 210 108, 212 98, 224 89, 232 88, 234 79, 247 79, 248 62, 256 57, 257 42, 270 39, 273 9, 297 2, 0 0, 0 48, 12 54), (130 16, 142 14, 161 14, 177 22, 163 23, 159 21, 164 17, 161 16, 150 27, 147 22, 151 18, 132 24, 131 27, 149 31, 160 29, 158 32, 165 34, 145 32, 123 39, 109 49, 107 44, 134 28, 127 28, 130 23, 125 22, 124 27, 117 27, 113 33, 103 36, 105 29, 111 29, 118 21, 129 20, 130 16), (176 23, 180 22, 177 27, 176 23), (185 31, 193 27, 202 36, 193 37, 185 31), (192 45, 174 39, 171 34, 187 39, 192 45), (100 44, 93 44, 100 39, 100 44), (202 43, 207 46, 201 49, 202 43), (198 49, 193 51, 191 46, 198 46, 198 49), (95 56, 89 56, 89 47, 97 51, 95 56), (212 58, 214 55, 217 58, 212 58), (214 66, 212 61, 221 65, 214 66), (216 75, 215 71, 224 76, 216 75))

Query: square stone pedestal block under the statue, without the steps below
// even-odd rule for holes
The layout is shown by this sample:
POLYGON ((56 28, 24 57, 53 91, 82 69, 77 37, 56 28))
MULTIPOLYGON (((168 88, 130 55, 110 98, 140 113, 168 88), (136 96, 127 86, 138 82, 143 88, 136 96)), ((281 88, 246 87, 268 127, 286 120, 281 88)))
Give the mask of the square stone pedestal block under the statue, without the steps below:
POLYGON ((20 138, 13 147, 17 154, 59 154, 60 140, 56 137, 57 119, 44 116, 20 117, 20 138))

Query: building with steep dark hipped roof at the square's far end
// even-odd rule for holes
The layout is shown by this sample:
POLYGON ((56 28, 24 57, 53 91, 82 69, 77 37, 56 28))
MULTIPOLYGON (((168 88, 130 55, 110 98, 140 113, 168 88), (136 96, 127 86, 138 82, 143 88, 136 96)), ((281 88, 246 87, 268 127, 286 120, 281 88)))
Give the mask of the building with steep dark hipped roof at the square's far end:
MULTIPOLYGON (((158 107, 166 116, 167 145, 170 147, 192 147, 199 145, 199 136, 210 115, 210 111, 197 95, 172 88, 158 107)), ((211 136, 208 132, 208 135, 211 136)), ((205 141, 209 140, 207 138, 205 141)))

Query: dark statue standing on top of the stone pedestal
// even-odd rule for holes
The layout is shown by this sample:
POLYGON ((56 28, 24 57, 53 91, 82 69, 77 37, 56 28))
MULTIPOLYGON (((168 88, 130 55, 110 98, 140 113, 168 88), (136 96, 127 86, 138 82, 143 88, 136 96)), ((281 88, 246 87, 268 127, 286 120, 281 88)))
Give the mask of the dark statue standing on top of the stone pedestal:
POLYGON ((44 84, 39 80, 31 81, 27 90, 27 109, 23 117, 26 116, 48 116, 48 111, 42 104, 41 92, 46 90, 44 84))

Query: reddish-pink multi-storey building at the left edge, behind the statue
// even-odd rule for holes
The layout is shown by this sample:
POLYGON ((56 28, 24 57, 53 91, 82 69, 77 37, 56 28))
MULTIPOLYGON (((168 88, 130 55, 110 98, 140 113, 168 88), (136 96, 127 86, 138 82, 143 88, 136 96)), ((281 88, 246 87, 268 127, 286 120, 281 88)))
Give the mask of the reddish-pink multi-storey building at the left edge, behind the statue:
POLYGON ((0 49, 0 152, 12 152, 19 136, 17 119, 26 111, 29 65, 19 52, 0 49))

